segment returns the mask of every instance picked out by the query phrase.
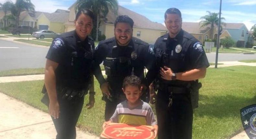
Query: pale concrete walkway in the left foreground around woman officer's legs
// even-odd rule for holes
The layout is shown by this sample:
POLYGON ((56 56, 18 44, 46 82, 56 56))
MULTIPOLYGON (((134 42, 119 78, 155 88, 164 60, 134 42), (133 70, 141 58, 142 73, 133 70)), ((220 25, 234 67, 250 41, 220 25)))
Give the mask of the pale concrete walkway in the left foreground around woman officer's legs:
MULTIPOLYGON (((55 139, 56 130, 48 113, 0 93, 1 139, 55 139)), ((76 128, 77 139, 98 139, 76 128)))

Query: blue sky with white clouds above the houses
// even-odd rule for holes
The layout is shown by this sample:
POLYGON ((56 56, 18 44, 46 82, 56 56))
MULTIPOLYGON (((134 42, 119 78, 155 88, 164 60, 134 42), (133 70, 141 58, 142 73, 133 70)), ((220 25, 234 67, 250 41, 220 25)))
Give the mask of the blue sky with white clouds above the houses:
MULTIPOLYGON (((4 3, 6 0, 0 0, 4 3)), ((16 0, 12 0, 14 3, 16 0)), ((67 10, 76 0, 31 0, 36 11, 52 13, 67 10)), ((146 16, 153 22, 164 24, 168 8, 180 9, 183 22, 199 22, 206 11, 219 12, 219 0, 118 0, 119 5, 146 16)), ((222 14, 226 23, 244 23, 250 30, 256 24, 256 0, 222 0, 222 14)))

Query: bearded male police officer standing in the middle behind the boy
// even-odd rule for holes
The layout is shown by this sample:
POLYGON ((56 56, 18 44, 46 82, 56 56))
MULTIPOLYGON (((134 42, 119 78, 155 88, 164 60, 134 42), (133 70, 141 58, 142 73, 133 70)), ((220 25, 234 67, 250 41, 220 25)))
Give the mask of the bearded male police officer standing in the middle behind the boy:
MULTIPOLYGON (((95 64, 103 61, 107 81, 99 78, 103 100, 106 102, 105 120, 108 121, 113 115, 117 104, 124 101, 125 95, 122 92, 123 79, 134 74, 144 80, 144 85, 148 87, 144 76, 144 68, 148 70, 155 62, 153 49, 146 42, 132 37, 134 22, 129 16, 118 16, 114 23, 115 37, 99 42, 95 48, 95 64)), ((145 87, 146 88, 146 87, 145 87)), ((144 92, 141 99, 148 102, 149 93, 144 92)))

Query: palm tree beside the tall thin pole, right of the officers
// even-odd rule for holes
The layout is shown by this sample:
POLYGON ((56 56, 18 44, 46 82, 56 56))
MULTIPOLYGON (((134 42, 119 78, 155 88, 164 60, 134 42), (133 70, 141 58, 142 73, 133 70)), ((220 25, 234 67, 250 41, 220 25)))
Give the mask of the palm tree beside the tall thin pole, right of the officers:
MULTIPOLYGON (((211 25, 211 29, 210 29, 210 38, 213 39, 213 29, 214 29, 214 25, 218 26, 219 24, 219 13, 212 13, 210 11, 206 11, 208 13, 208 15, 206 16, 202 16, 200 19, 203 19, 202 21, 199 22, 199 24, 202 23, 201 27, 205 27, 208 25, 211 25)), ((224 17, 220 18, 221 20, 225 20, 224 17)), ((223 25, 225 24, 224 22, 220 21, 220 24, 223 25)), ((221 27, 221 26, 220 26, 221 27)), ((222 30, 222 27, 221 27, 222 30)))

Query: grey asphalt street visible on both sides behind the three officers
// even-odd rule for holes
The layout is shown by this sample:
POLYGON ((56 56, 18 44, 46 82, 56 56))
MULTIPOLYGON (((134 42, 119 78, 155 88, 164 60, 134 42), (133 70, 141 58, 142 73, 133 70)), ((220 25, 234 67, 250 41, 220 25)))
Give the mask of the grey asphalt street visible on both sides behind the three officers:
MULTIPOLYGON (((20 68, 42 68, 45 66, 45 56, 49 47, 36 47, 0 40, 0 71, 20 68)), ((209 62, 215 62, 215 53, 207 53, 209 62)), ((238 61, 256 59, 256 54, 223 54, 218 61, 238 61)))

